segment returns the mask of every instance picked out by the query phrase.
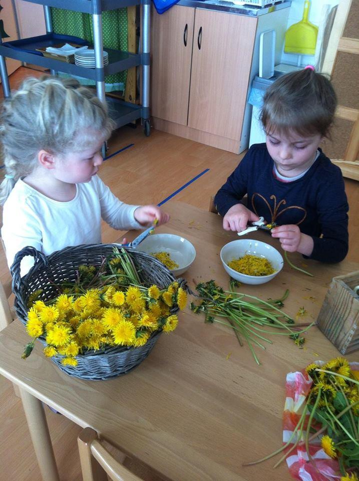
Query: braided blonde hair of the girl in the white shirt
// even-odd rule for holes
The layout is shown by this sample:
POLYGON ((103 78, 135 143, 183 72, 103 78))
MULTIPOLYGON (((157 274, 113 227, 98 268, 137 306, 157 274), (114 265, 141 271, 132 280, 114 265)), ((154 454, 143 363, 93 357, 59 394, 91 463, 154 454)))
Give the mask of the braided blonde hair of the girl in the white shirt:
POLYGON ((0 139, 6 177, 0 185, 3 205, 15 182, 38 166, 38 153, 54 155, 82 150, 94 132, 104 140, 114 129, 107 106, 75 79, 28 78, 5 100, 0 113, 0 139))

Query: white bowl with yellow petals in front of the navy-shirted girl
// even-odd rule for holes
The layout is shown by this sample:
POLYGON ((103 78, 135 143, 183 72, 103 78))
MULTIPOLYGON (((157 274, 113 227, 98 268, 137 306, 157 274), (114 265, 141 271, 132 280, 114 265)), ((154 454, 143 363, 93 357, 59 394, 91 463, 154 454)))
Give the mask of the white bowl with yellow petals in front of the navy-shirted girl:
POLYGON ((274 247, 254 239, 238 239, 222 247, 224 270, 243 284, 264 284, 281 271, 284 261, 274 247))

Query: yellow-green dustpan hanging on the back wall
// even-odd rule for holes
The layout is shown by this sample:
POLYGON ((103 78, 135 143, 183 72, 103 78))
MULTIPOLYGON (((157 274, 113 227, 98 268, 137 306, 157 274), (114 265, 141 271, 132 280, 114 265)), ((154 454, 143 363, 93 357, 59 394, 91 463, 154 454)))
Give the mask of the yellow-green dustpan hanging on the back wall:
POLYGON ((305 0, 303 19, 285 32, 284 52, 288 54, 315 54, 318 28, 308 21, 309 6, 309 0, 305 0))

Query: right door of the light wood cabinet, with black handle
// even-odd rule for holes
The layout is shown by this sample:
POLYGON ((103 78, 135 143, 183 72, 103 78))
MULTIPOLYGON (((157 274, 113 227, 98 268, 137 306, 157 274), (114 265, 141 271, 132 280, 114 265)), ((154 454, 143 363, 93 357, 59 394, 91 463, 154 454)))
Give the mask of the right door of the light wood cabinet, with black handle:
POLYGON ((188 126, 239 140, 257 19, 196 9, 188 126))

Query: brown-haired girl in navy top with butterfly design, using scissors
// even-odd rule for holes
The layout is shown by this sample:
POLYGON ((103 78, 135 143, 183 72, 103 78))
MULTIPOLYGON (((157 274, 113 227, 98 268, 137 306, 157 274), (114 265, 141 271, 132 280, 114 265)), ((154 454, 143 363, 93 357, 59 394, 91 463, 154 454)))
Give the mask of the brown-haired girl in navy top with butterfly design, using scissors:
POLYGON ((266 91, 265 144, 252 145, 215 197, 225 230, 263 216, 288 252, 340 262, 348 251, 348 204, 340 169, 319 148, 336 108, 331 83, 312 66, 266 91), (247 207, 242 203, 247 194, 247 207))

